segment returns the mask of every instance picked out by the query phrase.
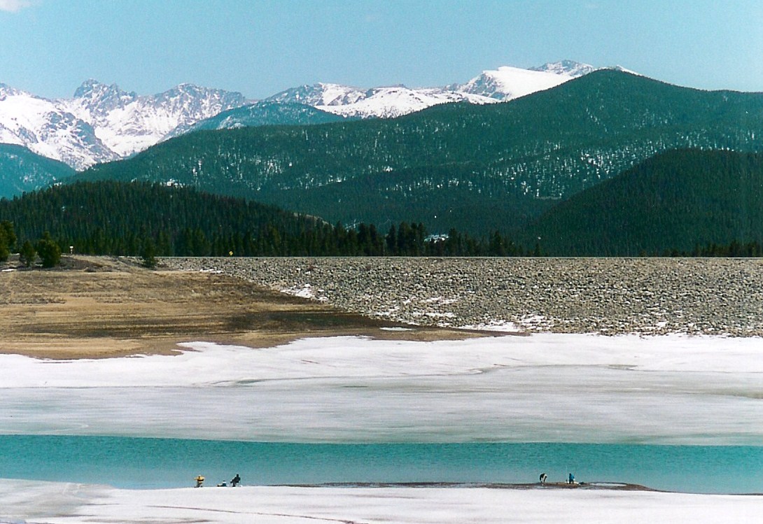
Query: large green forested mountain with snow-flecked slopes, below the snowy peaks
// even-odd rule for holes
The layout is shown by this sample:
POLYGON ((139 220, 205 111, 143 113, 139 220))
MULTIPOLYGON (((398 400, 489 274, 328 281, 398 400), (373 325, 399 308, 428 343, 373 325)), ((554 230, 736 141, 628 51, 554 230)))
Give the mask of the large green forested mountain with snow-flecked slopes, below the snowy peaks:
POLYGON ((504 104, 192 133, 79 178, 172 181, 330 222, 413 220, 486 235, 682 147, 763 149, 763 95, 602 70, 504 104))

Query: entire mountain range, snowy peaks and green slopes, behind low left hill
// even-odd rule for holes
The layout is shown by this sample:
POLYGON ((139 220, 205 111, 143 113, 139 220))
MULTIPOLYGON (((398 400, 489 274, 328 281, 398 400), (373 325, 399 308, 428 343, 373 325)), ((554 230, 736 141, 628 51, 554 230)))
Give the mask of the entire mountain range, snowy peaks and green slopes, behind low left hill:
MULTIPOLYGON (((192 85, 140 97, 88 81, 56 101, 2 85, 0 140, 11 143, 0 143, 0 197, 146 181, 381 233, 407 222, 497 246, 500 232, 520 252, 763 243, 763 93, 571 62, 536 69, 444 88, 304 85, 254 103, 192 85), (89 167, 76 173, 24 140, 89 167)), ((222 249, 220 234, 208 233, 222 249)))

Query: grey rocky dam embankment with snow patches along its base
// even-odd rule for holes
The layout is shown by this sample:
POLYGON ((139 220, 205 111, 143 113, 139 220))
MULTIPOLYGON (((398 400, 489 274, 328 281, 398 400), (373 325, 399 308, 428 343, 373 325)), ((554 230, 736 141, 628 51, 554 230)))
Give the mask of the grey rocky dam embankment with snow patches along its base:
POLYGON ((405 323, 763 336, 763 259, 162 259, 405 323))

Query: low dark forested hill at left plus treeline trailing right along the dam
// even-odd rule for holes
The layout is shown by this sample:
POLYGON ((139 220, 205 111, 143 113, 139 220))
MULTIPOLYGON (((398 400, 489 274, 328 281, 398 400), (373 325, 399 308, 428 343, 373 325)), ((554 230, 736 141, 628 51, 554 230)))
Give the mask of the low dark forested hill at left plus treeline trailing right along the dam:
POLYGON ((18 246, 50 233, 63 252, 158 256, 481 256, 523 254, 494 233, 474 239, 452 230, 427 239, 420 223, 384 232, 345 228, 242 198, 146 182, 77 182, 0 199, 0 221, 13 224, 18 246))

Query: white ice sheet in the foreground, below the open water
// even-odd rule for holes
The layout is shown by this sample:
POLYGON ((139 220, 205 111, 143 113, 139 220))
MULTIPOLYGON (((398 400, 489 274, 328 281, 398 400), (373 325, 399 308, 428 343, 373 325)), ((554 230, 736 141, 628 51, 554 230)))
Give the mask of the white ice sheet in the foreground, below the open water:
POLYGON ((211 524, 491 524, 491 522, 747 522, 763 497, 612 490, 237 487, 115 490, 0 481, 0 522, 211 524))

